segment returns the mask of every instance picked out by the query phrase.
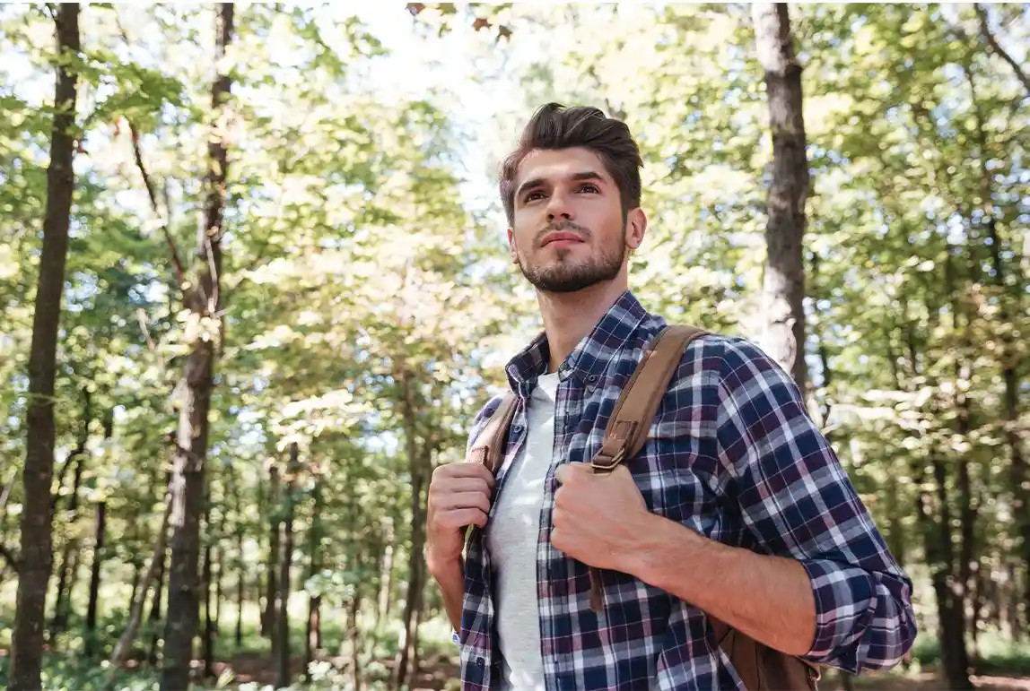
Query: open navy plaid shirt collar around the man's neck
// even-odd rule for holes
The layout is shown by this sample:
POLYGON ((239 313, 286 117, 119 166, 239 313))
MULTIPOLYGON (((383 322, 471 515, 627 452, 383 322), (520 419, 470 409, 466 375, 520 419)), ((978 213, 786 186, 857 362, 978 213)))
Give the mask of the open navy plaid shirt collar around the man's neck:
MULTIPOLYGON (((623 292, 558 366, 559 380, 564 381, 571 375, 584 383, 596 380, 649 316, 631 291, 623 292)), ((527 395, 537 377, 547 371, 550 357, 547 335, 541 331, 505 368, 512 391, 527 395)))

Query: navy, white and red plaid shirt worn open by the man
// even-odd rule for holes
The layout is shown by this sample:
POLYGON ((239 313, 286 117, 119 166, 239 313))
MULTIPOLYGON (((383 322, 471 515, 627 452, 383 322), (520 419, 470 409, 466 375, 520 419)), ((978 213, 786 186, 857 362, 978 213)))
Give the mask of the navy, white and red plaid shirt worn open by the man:
MULTIPOLYGON (((537 548, 548 691, 743 689, 703 612, 626 574, 602 571, 605 610, 595 614, 587 567, 550 543, 554 471, 562 463, 589 462, 600 447, 622 387, 664 324, 626 291, 558 370, 554 457, 537 548)), ((525 405, 548 360, 541 334, 508 364, 518 403, 495 493, 504 492, 507 469, 526 441, 525 405)), ((476 415, 470 445, 500 401, 476 415)), ((625 465, 649 510, 712 540, 790 556, 804 567, 816 603, 809 661, 852 672, 888 668, 912 646, 911 580, 806 413, 793 379, 755 346, 719 335, 694 340, 644 448, 625 465)), ((501 687, 491 581, 483 531, 475 529, 456 633, 467 691, 501 687)))

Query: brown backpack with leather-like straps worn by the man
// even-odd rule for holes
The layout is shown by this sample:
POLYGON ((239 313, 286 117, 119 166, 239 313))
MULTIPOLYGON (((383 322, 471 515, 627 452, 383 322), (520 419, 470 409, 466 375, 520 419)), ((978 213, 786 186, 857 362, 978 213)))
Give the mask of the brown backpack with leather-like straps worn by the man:
MULTIPOLYGON (((591 460, 593 472, 610 473, 643 448, 650 421, 658 410, 673 371, 687 346, 707 332, 690 326, 666 326, 648 344, 622 390, 605 429, 600 450, 591 460)), ((509 392, 470 449, 469 462, 482 463, 496 474, 504 458, 503 442, 515 416, 515 395, 509 392)), ((590 603, 604 608, 597 570, 590 568, 590 603)), ((774 650, 707 615, 719 646, 729 657, 748 691, 815 691, 820 672, 809 662, 774 650)))

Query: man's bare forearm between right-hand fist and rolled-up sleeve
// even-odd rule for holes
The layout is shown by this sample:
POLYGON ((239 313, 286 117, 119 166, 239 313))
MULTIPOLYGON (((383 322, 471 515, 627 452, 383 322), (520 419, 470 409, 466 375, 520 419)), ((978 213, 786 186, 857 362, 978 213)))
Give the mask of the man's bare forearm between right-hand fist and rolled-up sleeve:
POLYGON ((646 583, 770 648, 811 650, 815 596, 798 561, 723 545, 657 515, 632 554, 632 574, 646 583))

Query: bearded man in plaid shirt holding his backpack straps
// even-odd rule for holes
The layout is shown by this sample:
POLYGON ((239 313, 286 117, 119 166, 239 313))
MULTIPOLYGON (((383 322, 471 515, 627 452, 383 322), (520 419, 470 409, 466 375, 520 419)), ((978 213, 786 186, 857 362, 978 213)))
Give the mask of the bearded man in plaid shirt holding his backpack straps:
POLYGON ((893 666, 916 635, 912 583, 797 387, 753 344, 692 341, 644 448, 592 474, 664 325, 628 290, 647 229, 641 167, 622 122, 557 104, 502 167, 511 258, 544 331, 506 370, 518 399, 496 478, 453 464, 430 485, 426 559, 462 688, 741 689, 708 615, 813 663, 893 666))

